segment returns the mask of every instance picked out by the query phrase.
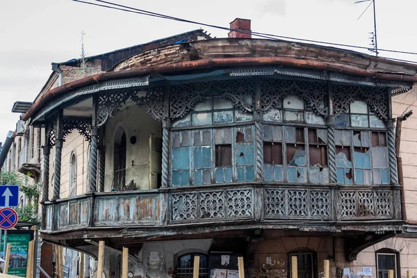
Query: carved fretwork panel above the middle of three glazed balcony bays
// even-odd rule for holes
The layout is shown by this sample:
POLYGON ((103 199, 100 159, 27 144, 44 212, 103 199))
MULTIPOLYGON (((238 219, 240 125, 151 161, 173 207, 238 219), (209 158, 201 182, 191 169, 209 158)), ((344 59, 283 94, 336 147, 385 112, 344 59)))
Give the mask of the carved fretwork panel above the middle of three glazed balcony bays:
POLYGON ((261 79, 261 110, 281 108, 286 95, 298 95, 306 101, 306 107, 322 116, 327 116, 327 85, 323 82, 261 79))

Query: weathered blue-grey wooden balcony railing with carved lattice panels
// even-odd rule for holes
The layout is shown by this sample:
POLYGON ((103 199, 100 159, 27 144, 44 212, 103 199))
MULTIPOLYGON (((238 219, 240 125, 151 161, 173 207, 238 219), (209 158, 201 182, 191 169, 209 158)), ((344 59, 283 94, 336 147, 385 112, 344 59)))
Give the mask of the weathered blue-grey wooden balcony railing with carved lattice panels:
POLYGON ((392 186, 192 186, 80 195, 44 205, 47 232, 245 221, 366 224, 401 218, 400 189, 392 186))

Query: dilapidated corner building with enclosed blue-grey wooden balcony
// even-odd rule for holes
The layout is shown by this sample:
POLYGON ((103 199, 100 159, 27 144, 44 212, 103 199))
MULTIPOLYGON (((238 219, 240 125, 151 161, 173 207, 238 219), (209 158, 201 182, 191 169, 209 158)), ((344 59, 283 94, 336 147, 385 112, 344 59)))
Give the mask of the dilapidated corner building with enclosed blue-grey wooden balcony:
POLYGON ((56 65, 22 117, 44 129, 44 242, 94 258, 105 240, 106 277, 122 247, 131 277, 192 277, 195 254, 199 277, 238 256, 248 277, 289 277, 290 256, 300 277, 325 259, 400 277, 373 246, 404 231, 391 99, 417 65, 229 35, 90 58, 67 83, 76 61, 56 65))

